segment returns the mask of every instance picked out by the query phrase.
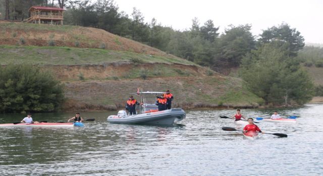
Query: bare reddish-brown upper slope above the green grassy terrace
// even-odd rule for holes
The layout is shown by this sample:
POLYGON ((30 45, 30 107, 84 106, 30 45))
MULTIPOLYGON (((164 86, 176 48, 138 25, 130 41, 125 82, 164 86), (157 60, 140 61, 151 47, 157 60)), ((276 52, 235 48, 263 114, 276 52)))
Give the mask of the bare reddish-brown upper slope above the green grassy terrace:
POLYGON ((48 42, 51 40, 55 46, 104 48, 176 57, 148 45, 96 28, 0 21, 0 30, 0 45, 20 45, 23 39, 23 45, 48 46, 48 42))

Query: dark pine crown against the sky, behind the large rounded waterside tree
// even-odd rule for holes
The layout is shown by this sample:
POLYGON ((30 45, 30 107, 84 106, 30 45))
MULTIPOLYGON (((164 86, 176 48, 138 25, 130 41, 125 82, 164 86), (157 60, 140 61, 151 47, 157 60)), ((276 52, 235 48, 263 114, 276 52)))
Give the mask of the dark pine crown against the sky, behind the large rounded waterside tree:
POLYGON ((296 56, 297 52, 305 46, 304 37, 299 31, 291 28, 288 24, 282 23, 278 27, 273 26, 264 30, 259 38, 260 44, 279 42, 280 46, 285 45, 289 50, 290 56, 296 56))

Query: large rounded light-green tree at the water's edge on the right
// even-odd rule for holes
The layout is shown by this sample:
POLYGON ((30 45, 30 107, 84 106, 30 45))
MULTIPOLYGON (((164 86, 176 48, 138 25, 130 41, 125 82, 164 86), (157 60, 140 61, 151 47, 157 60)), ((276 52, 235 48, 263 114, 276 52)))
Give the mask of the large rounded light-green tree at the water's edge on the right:
POLYGON ((250 90, 266 103, 304 104, 313 96, 313 83, 289 52, 264 44, 243 58, 241 77, 250 90))

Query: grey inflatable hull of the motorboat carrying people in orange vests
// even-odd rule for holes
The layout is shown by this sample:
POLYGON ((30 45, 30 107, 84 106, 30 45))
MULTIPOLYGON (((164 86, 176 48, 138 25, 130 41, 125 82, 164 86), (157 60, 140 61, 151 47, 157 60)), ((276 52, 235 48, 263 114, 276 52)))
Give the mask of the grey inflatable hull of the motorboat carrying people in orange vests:
POLYGON ((107 121, 120 124, 144 124, 144 125, 172 125, 185 119, 186 114, 181 108, 165 111, 149 112, 132 116, 109 116, 107 121))

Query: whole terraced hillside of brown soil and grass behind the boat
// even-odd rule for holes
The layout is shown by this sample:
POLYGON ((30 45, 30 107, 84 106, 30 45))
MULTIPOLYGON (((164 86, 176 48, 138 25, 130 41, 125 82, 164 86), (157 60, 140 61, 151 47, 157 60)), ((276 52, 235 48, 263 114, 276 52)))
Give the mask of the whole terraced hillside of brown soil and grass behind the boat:
POLYGON ((174 107, 185 109, 262 103, 241 79, 103 30, 9 22, 0 22, 0 29, 0 63, 32 63, 52 72, 65 84, 65 111, 118 110, 137 87, 169 89, 174 107))

